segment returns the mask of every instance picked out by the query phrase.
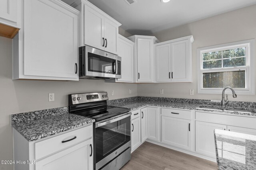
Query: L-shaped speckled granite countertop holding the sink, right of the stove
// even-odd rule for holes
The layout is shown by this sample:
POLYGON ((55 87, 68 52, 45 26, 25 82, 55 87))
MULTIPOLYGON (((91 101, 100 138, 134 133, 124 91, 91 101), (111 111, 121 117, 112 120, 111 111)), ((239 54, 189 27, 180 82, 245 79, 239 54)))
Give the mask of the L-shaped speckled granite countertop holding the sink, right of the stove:
MULTIPOLYGON (((197 111, 205 111, 205 112, 213 112, 213 113, 227 113, 227 114, 235 114, 235 115, 256 116, 256 113, 245 113, 245 112, 238 112, 238 111, 215 111, 215 110, 198 108, 200 106, 221 107, 220 102, 212 102, 211 100, 198 100, 198 99, 157 98, 157 97, 138 96, 138 97, 132 97, 132 98, 109 100, 108 105, 116 106, 116 107, 126 107, 131 110, 138 109, 144 106, 156 106, 156 107, 170 107, 170 108, 176 108, 176 109, 197 110, 197 111)), ((246 110, 256 111, 256 103, 230 101, 226 105, 226 108, 246 109, 246 110)))

